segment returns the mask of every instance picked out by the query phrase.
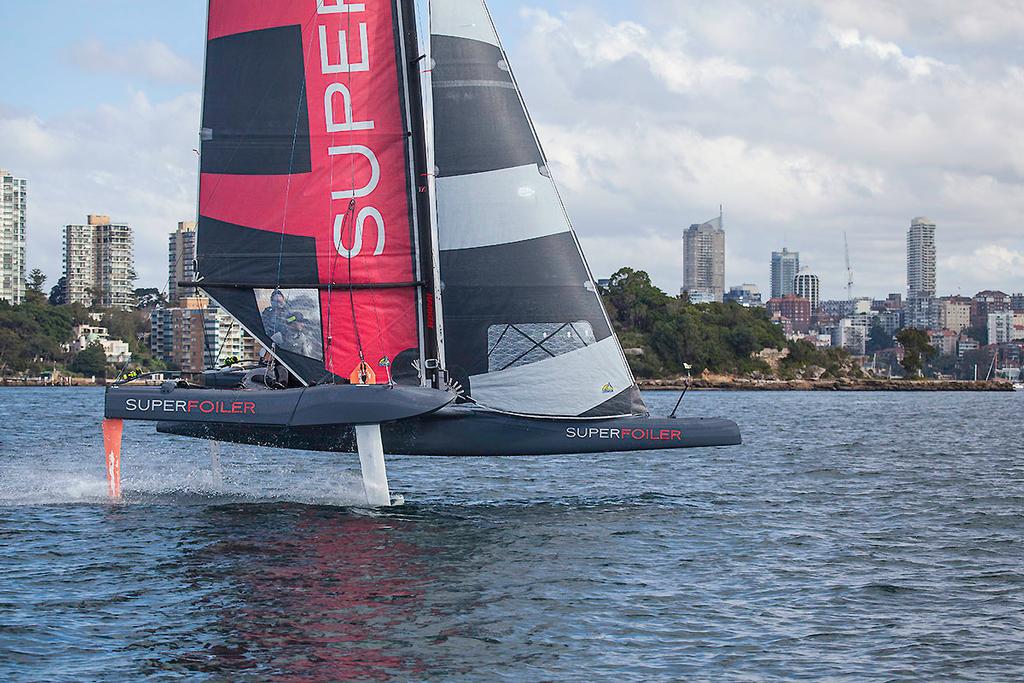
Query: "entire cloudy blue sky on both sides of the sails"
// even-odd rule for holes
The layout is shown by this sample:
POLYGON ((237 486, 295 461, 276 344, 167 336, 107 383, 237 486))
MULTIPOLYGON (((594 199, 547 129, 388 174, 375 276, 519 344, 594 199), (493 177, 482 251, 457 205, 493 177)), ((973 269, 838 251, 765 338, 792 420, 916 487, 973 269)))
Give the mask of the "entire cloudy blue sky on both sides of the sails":
MULTIPOLYGON (((939 291, 1024 291, 1019 0, 492 0, 598 278, 682 281, 681 236, 725 209, 726 285, 801 252, 825 298, 906 289, 938 225, 939 291)), ((140 287, 196 214, 205 0, 0 3, 0 168, 29 180, 28 264, 60 226, 135 227, 140 287)))

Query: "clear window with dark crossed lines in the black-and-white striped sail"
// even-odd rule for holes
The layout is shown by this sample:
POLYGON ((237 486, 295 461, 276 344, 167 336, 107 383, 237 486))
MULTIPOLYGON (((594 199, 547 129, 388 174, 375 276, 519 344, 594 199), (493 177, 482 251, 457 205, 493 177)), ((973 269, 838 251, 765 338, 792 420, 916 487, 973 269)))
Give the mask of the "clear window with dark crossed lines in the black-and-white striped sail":
POLYGON ((493 325, 487 328, 487 372, 521 368, 596 343, 586 321, 493 325))

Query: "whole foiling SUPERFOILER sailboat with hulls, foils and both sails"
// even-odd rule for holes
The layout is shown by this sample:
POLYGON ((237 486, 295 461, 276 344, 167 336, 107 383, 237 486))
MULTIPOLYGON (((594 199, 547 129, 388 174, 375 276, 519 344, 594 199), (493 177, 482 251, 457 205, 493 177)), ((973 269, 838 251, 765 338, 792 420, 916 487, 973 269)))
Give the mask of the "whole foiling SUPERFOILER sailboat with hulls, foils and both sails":
MULTIPOLYGON (((652 417, 483 0, 210 0, 194 281, 266 351, 105 394, 123 420, 216 441, 538 456, 732 445, 652 417)), ((678 408, 678 405, 677 405, 678 408)))

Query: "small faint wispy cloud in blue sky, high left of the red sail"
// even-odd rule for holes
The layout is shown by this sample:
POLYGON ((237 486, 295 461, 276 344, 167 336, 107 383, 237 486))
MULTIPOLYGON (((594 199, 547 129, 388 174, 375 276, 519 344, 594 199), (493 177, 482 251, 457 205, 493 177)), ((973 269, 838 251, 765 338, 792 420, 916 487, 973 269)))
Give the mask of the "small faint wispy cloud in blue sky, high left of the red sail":
POLYGON ((87 72, 140 77, 152 83, 193 85, 201 78, 197 65, 159 40, 138 41, 118 49, 99 40, 86 40, 72 45, 68 56, 87 72))

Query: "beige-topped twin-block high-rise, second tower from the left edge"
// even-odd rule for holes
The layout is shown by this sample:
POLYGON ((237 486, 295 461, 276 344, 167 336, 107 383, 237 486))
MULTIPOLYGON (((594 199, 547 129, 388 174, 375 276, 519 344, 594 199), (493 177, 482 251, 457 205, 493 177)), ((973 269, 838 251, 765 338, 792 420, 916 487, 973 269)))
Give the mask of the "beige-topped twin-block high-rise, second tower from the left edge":
POLYGON ((65 225, 65 283, 68 303, 112 308, 134 305, 135 242, 125 223, 90 215, 65 225))

